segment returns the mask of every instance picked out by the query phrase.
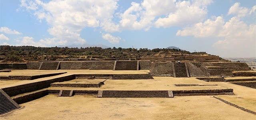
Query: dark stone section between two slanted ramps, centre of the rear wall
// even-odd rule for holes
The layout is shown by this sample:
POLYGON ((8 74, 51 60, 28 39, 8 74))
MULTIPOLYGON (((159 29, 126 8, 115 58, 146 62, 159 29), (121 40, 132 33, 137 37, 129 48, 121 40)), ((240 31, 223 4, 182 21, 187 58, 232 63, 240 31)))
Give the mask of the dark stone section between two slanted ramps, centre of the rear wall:
POLYGON ((114 70, 137 70, 137 61, 116 61, 114 70))

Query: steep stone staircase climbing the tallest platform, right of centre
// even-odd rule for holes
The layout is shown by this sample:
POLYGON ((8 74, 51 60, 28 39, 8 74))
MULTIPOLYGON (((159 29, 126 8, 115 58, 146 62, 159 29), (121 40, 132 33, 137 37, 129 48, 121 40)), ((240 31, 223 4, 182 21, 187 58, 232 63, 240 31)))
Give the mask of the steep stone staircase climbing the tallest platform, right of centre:
POLYGON ((174 77, 189 77, 186 63, 174 63, 174 77))

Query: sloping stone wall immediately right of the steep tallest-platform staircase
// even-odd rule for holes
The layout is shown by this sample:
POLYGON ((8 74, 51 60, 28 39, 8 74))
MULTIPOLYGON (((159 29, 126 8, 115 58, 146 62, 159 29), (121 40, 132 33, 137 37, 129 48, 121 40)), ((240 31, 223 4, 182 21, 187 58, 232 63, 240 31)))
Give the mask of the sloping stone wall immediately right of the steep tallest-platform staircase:
POLYGON ((188 71, 192 77, 206 77, 210 76, 208 69, 204 66, 203 62, 186 62, 188 71))

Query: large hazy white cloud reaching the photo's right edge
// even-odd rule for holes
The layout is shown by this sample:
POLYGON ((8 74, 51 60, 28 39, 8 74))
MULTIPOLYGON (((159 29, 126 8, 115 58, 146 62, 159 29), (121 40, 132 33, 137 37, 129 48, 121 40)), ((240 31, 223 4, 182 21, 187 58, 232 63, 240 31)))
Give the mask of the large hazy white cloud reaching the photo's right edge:
POLYGON ((256 25, 247 25, 240 20, 241 17, 245 17, 254 9, 254 7, 251 10, 240 7, 239 3, 235 3, 228 12, 228 14, 235 16, 229 21, 225 21, 222 16, 213 17, 204 22, 185 27, 183 30, 178 30, 176 35, 218 37, 219 40, 213 45, 215 48, 234 51, 236 56, 244 56, 245 53, 249 54, 249 56, 255 56, 256 25))

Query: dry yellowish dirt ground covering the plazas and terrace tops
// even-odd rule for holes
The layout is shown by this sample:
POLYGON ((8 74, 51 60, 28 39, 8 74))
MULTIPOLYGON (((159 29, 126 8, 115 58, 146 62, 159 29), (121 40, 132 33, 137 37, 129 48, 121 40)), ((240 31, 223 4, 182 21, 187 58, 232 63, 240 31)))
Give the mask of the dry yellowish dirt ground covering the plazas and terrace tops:
MULTIPOLYGON (((9 74, 30 74, 38 71, 12 71, 9 74)), ((52 71, 42 71, 48 73, 52 71)), ((54 71, 67 74, 27 81, 0 81, 0 88, 43 81, 69 74, 145 74, 148 71, 54 71)), ((40 73, 40 74, 42 74, 40 73)), ((0 73, 0 75, 3 73, 0 73)), ((34 75, 34 74, 32 74, 34 75)), ((74 79, 67 82, 77 82, 74 79)), ((96 80, 96 79, 94 79, 96 80)), ((100 80, 102 81, 102 80, 100 80)), ((89 81, 90 83, 90 81, 89 81)), ((234 89, 235 95, 219 95, 230 103, 256 112, 256 89, 225 82, 205 82, 195 77, 154 77, 141 80, 108 79, 100 88, 47 89, 91 89, 91 90, 188 90, 188 89, 234 89), (177 87, 174 84, 199 84, 210 86, 177 87)), ((97 98, 89 95, 58 97, 47 95, 40 99, 20 104, 21 108, 0 115, 0 120, 256 120, 256 115, 230 106, 213 96, 185 96, 174 98, 97 98)))

